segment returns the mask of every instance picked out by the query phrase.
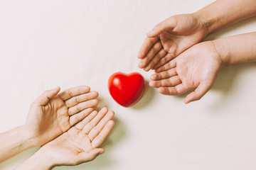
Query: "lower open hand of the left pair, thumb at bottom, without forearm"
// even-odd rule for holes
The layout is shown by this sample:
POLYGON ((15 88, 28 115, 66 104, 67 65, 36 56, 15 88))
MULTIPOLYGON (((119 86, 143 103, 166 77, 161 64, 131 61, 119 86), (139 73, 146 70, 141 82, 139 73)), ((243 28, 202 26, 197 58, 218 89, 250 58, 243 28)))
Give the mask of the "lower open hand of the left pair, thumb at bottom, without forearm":
POLYGON ((52 166, 77 165, 95 159, 104 149, 99 148, 110 134, 114 121, 113 111, 102 108, 38 150, 52 166))

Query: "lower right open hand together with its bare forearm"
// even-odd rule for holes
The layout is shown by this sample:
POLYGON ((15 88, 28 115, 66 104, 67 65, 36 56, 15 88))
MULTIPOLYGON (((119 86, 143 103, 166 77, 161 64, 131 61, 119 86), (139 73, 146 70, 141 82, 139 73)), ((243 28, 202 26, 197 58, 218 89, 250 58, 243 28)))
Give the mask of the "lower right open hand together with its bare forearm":
POLYGON ((256 61, 256 32, 193 45, 152 74, 149 86, 159 93, 178 95, 195 89, 185 103, 199 100, 210 89, 220 68, 256 61))

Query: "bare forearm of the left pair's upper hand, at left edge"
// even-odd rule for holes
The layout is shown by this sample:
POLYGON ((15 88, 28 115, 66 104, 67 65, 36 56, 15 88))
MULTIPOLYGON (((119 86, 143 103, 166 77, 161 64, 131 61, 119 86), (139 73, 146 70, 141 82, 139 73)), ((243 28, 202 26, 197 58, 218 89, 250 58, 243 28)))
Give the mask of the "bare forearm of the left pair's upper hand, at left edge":
POLYGON ((0 144, 0 162, 33 147, 30 137, 23 130, 23 126, 1 133, 0 144))

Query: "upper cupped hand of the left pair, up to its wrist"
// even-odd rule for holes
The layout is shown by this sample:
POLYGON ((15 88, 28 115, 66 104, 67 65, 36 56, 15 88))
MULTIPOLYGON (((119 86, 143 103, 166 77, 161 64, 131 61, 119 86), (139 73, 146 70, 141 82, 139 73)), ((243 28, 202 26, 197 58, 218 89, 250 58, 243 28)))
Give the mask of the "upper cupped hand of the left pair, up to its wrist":
POLYGON ((31 104, 25 131, 34 146, 41 146, 63 134, 97 106, 97 91, 78 86, 58 94, 60 88, 45 91, 31 104))

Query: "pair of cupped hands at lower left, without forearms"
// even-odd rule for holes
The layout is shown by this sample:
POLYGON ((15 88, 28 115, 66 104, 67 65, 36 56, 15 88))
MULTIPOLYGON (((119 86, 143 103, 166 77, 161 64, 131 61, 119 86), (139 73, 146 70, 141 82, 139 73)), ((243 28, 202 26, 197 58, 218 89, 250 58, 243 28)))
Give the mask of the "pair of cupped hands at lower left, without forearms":
POLYGON ((104 152, 99 147, 114 126, 114 112, 94 111, 98 94, 88 86, 59 91, 45 91, 32 103, 24 131, 33 146, 42 146, 36 157, 50 167, 88 162, 104 152))

